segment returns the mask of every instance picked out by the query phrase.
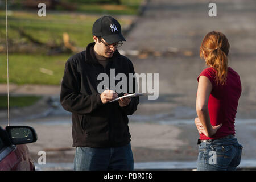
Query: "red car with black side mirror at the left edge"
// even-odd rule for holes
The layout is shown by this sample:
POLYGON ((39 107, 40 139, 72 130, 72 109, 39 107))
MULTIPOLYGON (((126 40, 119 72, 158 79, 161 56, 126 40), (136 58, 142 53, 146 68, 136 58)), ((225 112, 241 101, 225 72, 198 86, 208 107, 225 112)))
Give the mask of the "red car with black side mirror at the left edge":
POLYGON ((0 171, 35 170, 26 143, 36 142, 36 131, 29 126, 0 127, 0 171))

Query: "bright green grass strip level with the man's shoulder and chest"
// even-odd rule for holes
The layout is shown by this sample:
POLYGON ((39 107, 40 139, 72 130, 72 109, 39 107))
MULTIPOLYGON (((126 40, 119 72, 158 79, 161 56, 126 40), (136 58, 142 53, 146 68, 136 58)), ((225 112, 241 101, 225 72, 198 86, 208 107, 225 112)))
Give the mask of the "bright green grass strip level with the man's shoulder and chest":
MULTIPOLYGON (((71 55, 9 55, 9 82, 14 84, 59 85, 63 77, 65 61, 71 55), (52 71, 42 73, 40 68, 52 71)), ((0 54, 0 82, 7 83, 6 55, 0 54)))

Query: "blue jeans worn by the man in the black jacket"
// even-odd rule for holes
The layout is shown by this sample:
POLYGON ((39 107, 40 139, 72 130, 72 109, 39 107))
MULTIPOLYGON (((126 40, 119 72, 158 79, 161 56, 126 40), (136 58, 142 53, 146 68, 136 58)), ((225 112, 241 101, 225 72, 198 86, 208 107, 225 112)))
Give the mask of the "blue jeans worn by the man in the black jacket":
POLYGON ((74 170, 76 171, 132 171, 131 144, 122 147, 76 147, 74 170))

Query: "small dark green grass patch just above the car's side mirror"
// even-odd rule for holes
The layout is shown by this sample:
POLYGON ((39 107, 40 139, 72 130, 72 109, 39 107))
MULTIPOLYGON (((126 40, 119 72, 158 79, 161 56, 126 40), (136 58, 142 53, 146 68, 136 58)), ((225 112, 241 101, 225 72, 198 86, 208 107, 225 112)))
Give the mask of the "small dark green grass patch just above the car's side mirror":
MULTIPOLYGON (((42 96, 10 96, 10 108, 25 107, 35 104, 42 96)), ((7 109, 8 101, 7 95, 0 95, 0 109, 7 109)))

